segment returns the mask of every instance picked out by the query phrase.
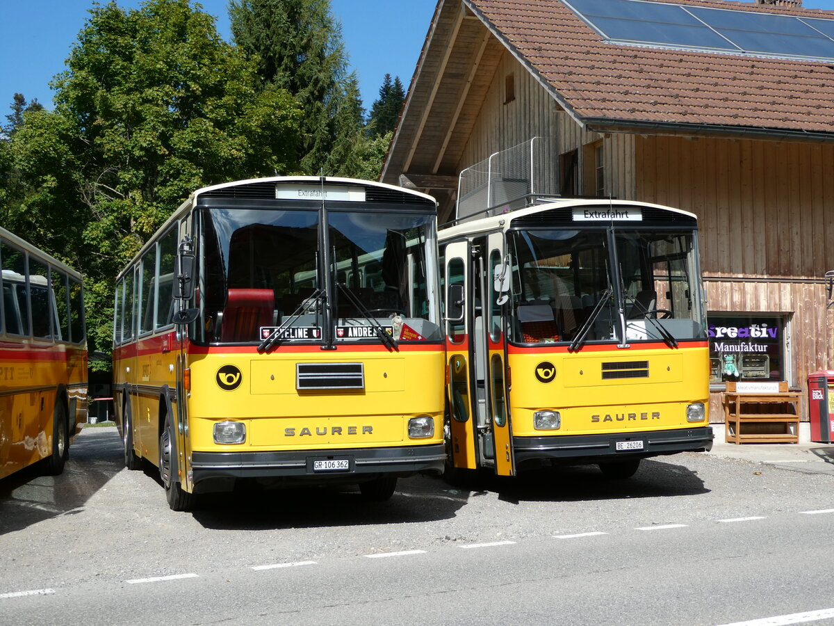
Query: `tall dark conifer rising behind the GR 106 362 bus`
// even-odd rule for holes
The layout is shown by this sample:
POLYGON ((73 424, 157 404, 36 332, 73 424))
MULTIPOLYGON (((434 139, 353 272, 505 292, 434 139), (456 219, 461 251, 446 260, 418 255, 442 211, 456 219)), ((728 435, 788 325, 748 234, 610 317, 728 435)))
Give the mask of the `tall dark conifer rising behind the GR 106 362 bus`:
POLYGON ((347 56, 329 0, 231 0, 229 16, 234 42, 257 63, 264 86, 288 89, 304 110, 301 171, 332 174, 334 145, 354 128, 352 120, 340 124, 353 103, 343 102, 347 56))

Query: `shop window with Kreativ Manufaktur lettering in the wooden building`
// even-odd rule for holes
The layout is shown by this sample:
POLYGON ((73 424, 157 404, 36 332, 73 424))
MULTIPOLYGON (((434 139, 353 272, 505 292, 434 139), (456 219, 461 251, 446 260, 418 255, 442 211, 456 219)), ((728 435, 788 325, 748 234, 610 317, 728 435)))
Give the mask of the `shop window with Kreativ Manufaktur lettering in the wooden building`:
POLYGON ((710 383, 788 381, 787 324, 783 316, 708 313, 710 383))

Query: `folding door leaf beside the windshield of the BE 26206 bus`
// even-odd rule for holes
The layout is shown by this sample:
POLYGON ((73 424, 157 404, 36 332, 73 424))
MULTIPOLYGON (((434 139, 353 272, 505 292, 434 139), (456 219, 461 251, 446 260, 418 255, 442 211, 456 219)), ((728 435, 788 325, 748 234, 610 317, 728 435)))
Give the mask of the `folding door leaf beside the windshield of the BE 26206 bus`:
MULTIPOLYGON (((502 302, 505 293, 500 280, 509 280, 510 267, 505 265, 504 235, 500 232, 487 235, 484 242, 484 280, 481 293, 485 294, 481 307, 485 317, 484 345, 487 347, 484 359, 485 397, 489 407, 489 432, 493 442, 495 473, 499 476, 514 476, 512 426, 507 402, 506 365, 506 306, 502 302)), ((506 283, 505 283, 506 284, 506 283)))

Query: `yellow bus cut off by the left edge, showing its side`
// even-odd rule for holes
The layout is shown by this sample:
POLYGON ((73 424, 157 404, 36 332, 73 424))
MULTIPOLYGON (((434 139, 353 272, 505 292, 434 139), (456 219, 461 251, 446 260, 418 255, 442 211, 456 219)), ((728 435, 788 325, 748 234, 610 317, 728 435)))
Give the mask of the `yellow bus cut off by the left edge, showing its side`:
POLYGON ((0 478, 60 474, 87 420, 81 275, 0 228, 0 478))

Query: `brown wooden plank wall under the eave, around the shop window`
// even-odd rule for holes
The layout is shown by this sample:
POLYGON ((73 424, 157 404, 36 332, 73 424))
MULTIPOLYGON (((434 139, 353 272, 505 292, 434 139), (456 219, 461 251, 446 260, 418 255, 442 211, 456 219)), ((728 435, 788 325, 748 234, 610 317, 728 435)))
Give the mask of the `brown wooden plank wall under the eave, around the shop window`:
POLYGON ((785 314, 801 391, 808 373, 834 369, 821 283, 834 269, 834 146, 637 137, 635 174, 636 199, 698 216, 708 310, 785 314))

